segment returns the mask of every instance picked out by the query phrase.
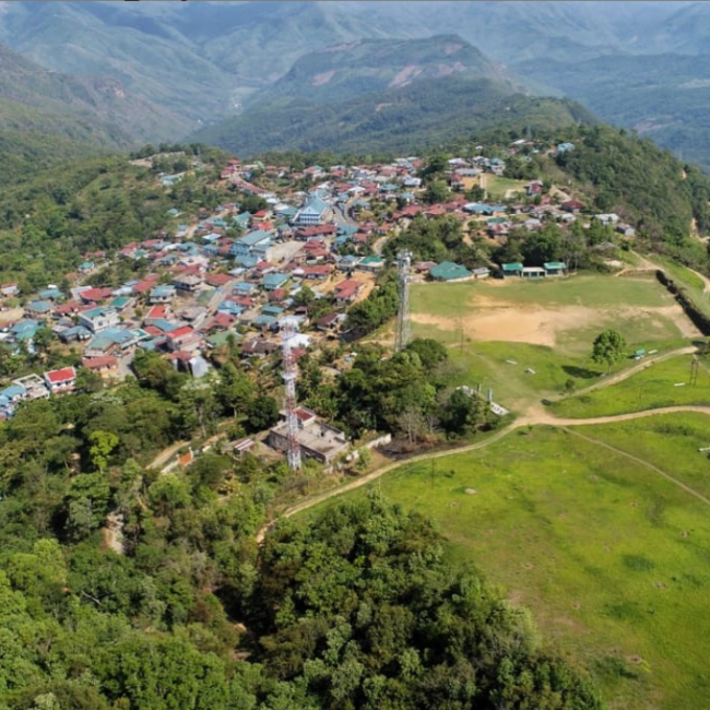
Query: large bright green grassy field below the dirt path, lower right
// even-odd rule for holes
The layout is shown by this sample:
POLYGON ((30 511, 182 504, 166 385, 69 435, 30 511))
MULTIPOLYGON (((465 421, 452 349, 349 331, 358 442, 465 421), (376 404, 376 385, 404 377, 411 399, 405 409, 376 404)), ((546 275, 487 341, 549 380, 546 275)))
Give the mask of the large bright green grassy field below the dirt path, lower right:
MULTIPOLYGON (((579 430, 708 488, 710 461, 697 452, 707 417, 579 430)), ((474 561, 530 606, 546 638, 589 668, 612 708, 706 707, 707 505, 622 454, 547 427, 403 465, 374 485, 437 520, 455 559, 474 561)))

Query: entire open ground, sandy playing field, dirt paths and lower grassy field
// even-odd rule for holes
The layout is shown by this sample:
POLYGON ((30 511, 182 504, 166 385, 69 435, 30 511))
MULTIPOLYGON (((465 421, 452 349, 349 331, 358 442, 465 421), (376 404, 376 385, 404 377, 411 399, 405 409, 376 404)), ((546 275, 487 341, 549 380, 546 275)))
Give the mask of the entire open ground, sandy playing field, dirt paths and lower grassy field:
POLYGON ((460 453, 387 465, 286 514, 380 486, 530 606, 611 707, 703 707, 710 370, 700 358, 689 383, 701 339, 660 284, 611 279, 415 286, 414 334, 449 346, 451 383, 495 389, 518 418, 460 453), (589 353, 608 327, 629 352, 658 353, 606 374, 589 353), (570 379, 580 394, 563 394, 570 379))

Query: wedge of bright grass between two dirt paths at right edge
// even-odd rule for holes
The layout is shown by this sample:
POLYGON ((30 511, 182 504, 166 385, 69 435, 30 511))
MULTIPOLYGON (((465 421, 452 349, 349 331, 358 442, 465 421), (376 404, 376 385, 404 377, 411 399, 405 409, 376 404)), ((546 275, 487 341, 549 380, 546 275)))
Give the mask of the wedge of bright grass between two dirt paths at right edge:
POLYGON ((710 404, 710 371, 700 359, 697 383, 689 384, 691 355, 651 363, 640 372, 607 388, 556 402, 555 414, 587 418, 683 404, 710 404), (682 387, 676 384, 683 383, 682 387))

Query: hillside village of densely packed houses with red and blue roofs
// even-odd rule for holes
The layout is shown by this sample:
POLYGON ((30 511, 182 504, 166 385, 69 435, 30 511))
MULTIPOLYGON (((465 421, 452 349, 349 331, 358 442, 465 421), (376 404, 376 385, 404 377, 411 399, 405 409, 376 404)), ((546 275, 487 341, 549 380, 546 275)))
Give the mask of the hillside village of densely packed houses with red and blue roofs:
MULTIPOLYGON (((563 143, 544 150, 554 155, 573 147, 563 143)), ((514 156, 521 150, 539 149, 517 141, 508 153, 514 156)), ((23 372, 7 381, 0 390, 0 417, 12 417, 24 401, 74 391, 81 387, 82 370, 106 384, 121 381, 133 374, 131 364, 140 351, 157 353, 176 370, 199 379, 218 364, 225 347, 238 348, 247 369, 279 358, 285 329, 296 333, 296 359, 352 341, 357 333, 348 310, 379 287, 378 279, 392 261, 383 255, 386 245, 416 220, 453 218, 468 244, 487 247, 476 263, 415 259, 412 279, 421 281, 565 275, 572 267, 566 261, 496 263, 485 256, 500 249, 513 232, 533 234, 552 223, 563 232, 580 221, 588 228, 603 226, 607 235, 635 234, 618 215, 592 215, 575 196, 540 179, 518 180, 514 189, 492 199, 486 186, 506 180, 501 158, 449 159, 442 171, 448 185, 438 196, 443 199, 423 181, 425 168, 418 157, 316 165, 299 171, 232 158, 220 181, 233 186, 241 200, 210 213, 171 209, 166 215, 170 230, 146 235, 116 253, 85 253, 75 272, 66 275, 68 293, 47 284, 19 303, 17 284, 0 285, 5 311, 0 336, 5 346, 33 354, 38 343, 54 338, 69 358, 75 357, 66 367, 23 372), (122 260, 145 263, 145 274, 110 286, 92 285, 94 274, 122 260)), ((169 189, 182 176, 163 174, 156 180, 169 189)), ((334 367, 342 371, 352 362, 352 356, 344 357, 334 367)), ((347 449, 345 435, 329 429, 313 412, 301 407, 299 417, 301 447, 310 458, 330 463, 347 449), (321 437, 330 448, 316 445, 321 437)), ((274 428, 270 442, 283 449, 282 439, 274 428)))

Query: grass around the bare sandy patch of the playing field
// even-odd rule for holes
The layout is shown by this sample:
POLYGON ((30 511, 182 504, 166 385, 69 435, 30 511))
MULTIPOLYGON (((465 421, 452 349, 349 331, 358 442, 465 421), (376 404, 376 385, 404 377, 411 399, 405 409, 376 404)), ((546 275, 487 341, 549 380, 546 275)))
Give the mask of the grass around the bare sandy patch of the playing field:
MULTIPOLYGON (((638 347, 664 352, 686 345, 687 339, 681 336, 673 319, 665 312, 653 311, 672 304, 672 297, 652 280, 596 275, 537 283, 510 280, 504 285, 476 282, 415 285, 412 287, 415 316, 412 330, 415 336, 433 338, 449 347, 452 384, 492 388, 496 401, 516 410, 542 398, 561 394, 570 379, 578 388, 583 388, 604 375, 606 368, 592 363, 590 355, 594 338, 605 328, 613 327, 624 333, 629 353, 638 347), (521 312, 547 308, 551 318, 557 308, 564 312, 565 307, 584 306, 599 311, 593 313, 591 321, 560 330, 554 347, 475 341, 466 335, 465 322, 477 312, 488 312, 492 299, 510 305, 512 309, 520 306, 521 312), (619 303, 630 309, 618 309, 619 303), (634 308, 644 309, 644 312, 634 308), (416 322, 417 313, 441 321, 438 324, 416 322)), ((624 360, 613 371, 634 364, 630 359, 624 360)))

